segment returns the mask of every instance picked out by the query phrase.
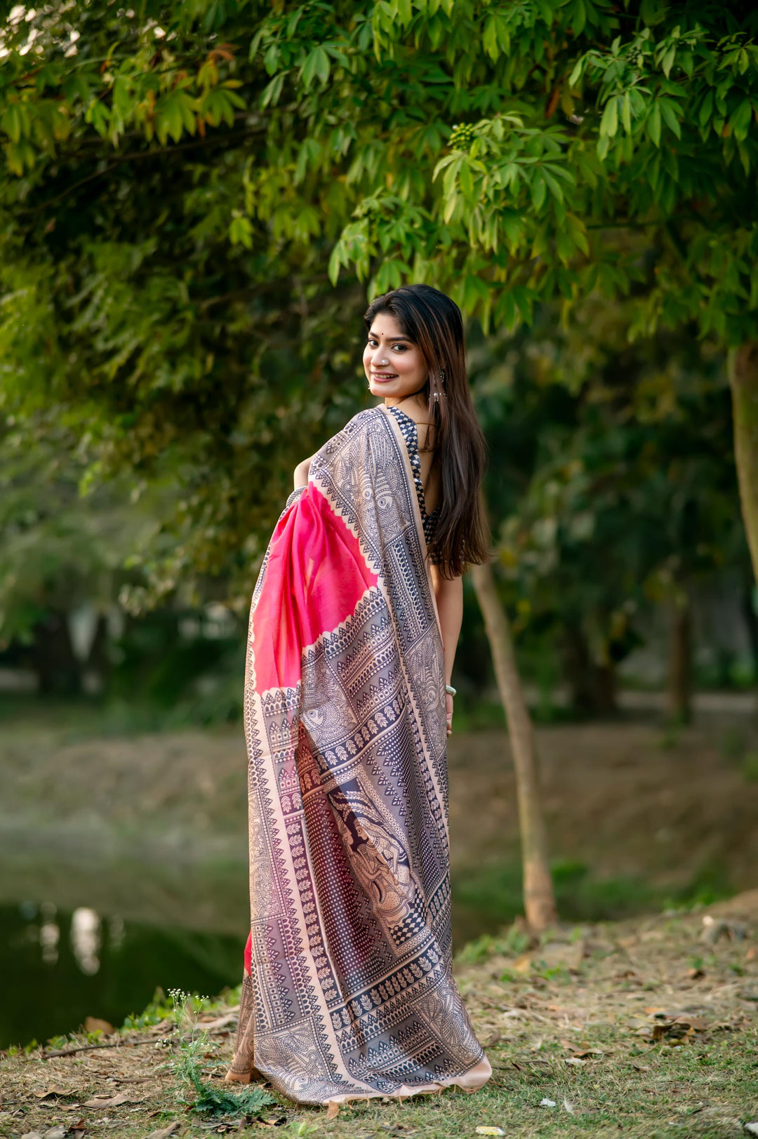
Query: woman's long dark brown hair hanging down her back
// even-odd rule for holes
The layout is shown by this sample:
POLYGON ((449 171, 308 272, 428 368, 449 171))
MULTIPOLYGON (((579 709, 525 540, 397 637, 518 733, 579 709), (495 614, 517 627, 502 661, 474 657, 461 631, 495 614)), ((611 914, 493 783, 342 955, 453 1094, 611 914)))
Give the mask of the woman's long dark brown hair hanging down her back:
POLYGON ((463 317, 455 301, 431 285, 404 285, 377 296, 364 318, 369 331, 381 312, 394 317, 426 362, 422 391, 430 409, 427 440, 441 487, 429 552, 443 576, 457 577, 467 565, 481 565, 489 557, 480 503, 487 445, 468 388, 463 317))

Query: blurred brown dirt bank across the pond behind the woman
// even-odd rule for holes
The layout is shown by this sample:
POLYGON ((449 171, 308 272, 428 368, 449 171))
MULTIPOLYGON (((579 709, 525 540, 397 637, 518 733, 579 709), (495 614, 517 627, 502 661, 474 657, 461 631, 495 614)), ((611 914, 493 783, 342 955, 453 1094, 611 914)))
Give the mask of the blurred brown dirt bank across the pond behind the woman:
MULTIPOLYGON (((758 782, 748 776, 758 731, 745 718, 703 719, 676 737, 631 721, 567 724, 538 729, 537 741, 554 859, 595 878, 671 891, 700 879, 756 885, 758 782)), ((198 928, 220 929, 227 915, 228 932, 238 929, 245 767, 238 729, 75 738, 71 729, 6 726, 0 854, 9 872, 0 900, 36 896, 43 875, 46 896, 63 907, 133 919, 158 908, 180 923, 191 898, 198 928), (149 874, 140 872, 145 865, 149 874), (220 896, 228 899, 221 917, 220 896)), ((517 891, 505 732, 454 734, 449 769, 454 879, 472 892, 466 904, 487 909, 503 868, 517 891)))

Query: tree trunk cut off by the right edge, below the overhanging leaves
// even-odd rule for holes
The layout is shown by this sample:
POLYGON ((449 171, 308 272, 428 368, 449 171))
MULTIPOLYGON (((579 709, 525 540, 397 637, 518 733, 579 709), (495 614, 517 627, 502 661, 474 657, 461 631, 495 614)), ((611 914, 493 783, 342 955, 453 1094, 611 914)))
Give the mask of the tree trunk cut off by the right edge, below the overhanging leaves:
POLYGON ((727 367, 742 521, 758 581, 758 341, 731 349, 727 367))

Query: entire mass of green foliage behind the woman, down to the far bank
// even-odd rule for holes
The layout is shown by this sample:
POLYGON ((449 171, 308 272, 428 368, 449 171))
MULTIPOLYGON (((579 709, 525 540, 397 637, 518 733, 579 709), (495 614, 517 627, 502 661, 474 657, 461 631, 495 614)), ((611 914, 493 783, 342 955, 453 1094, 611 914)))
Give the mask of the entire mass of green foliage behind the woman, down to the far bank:
POLYGON ((653 0, 15 6, 5 664, 46 695, 238 715, 291 472, 365 405, 367 290, 416 278, 468 317, 499 589, 544 714, 556 686, 616 712, 653 641, 675 719, 693 682, 755 680, 733 443, 750 530, 755 377, 740 402, 726 367, 758 295, 755 24, 653 0), (723 591, 743 629, 709 652, 693 601, 723 591))

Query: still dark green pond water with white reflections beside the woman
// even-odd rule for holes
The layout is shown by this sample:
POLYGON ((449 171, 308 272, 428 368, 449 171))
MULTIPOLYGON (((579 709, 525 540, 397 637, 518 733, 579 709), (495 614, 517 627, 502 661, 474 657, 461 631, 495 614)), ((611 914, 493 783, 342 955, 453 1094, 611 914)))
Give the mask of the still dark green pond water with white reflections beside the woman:
MULTIPOLYGON (((0 883, 0 1048, 43 1043, 87 1016, 120 1026, 157 986, 217 995, 242 981, 246 866, 0 861, 10 869, 0 883)), ((502 920, 454 913, 456 948, 502 920)))

